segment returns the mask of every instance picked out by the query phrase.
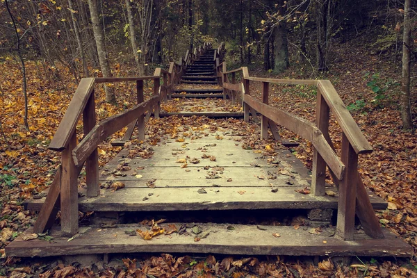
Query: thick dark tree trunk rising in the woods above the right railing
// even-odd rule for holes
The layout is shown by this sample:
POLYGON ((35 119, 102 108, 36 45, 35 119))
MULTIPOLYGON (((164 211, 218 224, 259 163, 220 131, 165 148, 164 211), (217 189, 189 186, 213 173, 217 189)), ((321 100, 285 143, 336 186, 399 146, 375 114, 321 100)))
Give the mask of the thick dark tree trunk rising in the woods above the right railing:
POLYGON ((275 53, 274 53, 274 70, 275 72, 282 72, 287 69, 290 65, 288 60, 288 39, 286 33, 286 24, 285 24, 285 13, 286 7, 284 6, 284 1, 280 1, 278 3, 279 6, 279 15, 283 19, 278 22, 277 26, 275 26, 275 53))

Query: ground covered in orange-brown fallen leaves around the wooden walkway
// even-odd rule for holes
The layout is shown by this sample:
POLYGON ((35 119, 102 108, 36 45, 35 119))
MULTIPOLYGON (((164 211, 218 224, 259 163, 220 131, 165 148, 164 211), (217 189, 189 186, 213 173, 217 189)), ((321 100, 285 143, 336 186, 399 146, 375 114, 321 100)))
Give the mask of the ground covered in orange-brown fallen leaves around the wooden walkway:
MULTIPOLYGON (((389 202, 389 209, 377 211, 379 220, 416 250, 417 208, 414 204, 417 200, 417 137, 411 131, 401 128, 398 110, 400 62, 397 61, 398 66, 395 67, 392 59, 373 54, 371 48, 367 47, 369 43, 361 37, 345 44, 336 44, 330 73, 325 76, 319 76, 316 72, 310 75, 309 63, 301 60, 299 63, 294 60, 292 66, 279 76, 253 70, 254 67, 250 67, 250 74, 290 79, 306 79, 309 76, 329 79, 334 83, 374 148, 372 154, 360 156, 359 171, 366 186, 389 202), (379 86, 379 94, 372 90, 375 85, 379 86)), ((115 265, 96 265, 95 268, 80 268, 79 265, 67 265, 60 260, 31 261, 6 257, 4 247, 34 222, 35 215, 24 211, 22 202, 42 191, 54 177, 60 155, 47 149, 47 146, 70 103, 77 83, 64 69, 58 67, 58 71, 50 68, 48 74, 44 74, 40 67, 40 63, 27 62, 30 130, 26 131, 23 122, 22 74, 18 63, 11 58, 0 63, 3 77, 0 82, 0 277, 91 277, 97 273, 100 277, 140 277, 144 273, 148 277, 172 277, 179 272, 183 273, 182 277, 417 277, 415 257, 410 260, 354 258, 354 266, 350 267, 326 258, 321 258, 320 263, 313 263, 308 258, 289 256, 215 258, 161 254, 135 256, 136 259, 124 256, 115 265)), ((117 106, 106 104, 102 88, 97 90, 99 119, 134 104, 134 84, 120 83, 113 87, 117 95, 117 106)), ((254 88, 253 95, 261 96, 260 90, 256 90, 260 86, 256 86, 255 82, 251 83, 251 88, 254 88)), ((151 92, 152 84, 145 84, 145 95, 149 96, 151 92)), ((416 94, 415 82, 412 92, 416 94)), ((273 85, 270 89, 271 105, 311 122, 315 117, 315 101, 316 90, 310 86, 273 85)), ((218 100, 217 105, 223 104, 222 100, 218 100)), ((176 112, 185 107, 204 111, 204 101, 179 101, 178 105, 163 106, 163 109, 176 112)), ((227 111, 239 109, 235 106, 226 107, 227 111)), ((77 129, 82 130, 81 124, 77 129)), ((151 120, 147 131, 158 130, 160 122, 151 120)), ((115 133, 113 138, 120 138, 123 133, 115 133)), ((330 133, 336 148, 340 147, 341 131, 334 118, 330 124, 330 133)), ((292 152, 311 168, 313 150, 309 142, 285 129, 281 129, 281 137, 300 142, 300 146, 293 148, 292 152)), ((149 142, 155 139, 149 138, 149 142)), ((112 147, 110 142, 109 139, 99 146, 100 165, 107 163, 120 151, 120 147, 112 147)), ((261 141, 256 147, 262 149, 267 143, 270 142, 261 141)), ((83 182, 81 179, 81 186, 83 182)))

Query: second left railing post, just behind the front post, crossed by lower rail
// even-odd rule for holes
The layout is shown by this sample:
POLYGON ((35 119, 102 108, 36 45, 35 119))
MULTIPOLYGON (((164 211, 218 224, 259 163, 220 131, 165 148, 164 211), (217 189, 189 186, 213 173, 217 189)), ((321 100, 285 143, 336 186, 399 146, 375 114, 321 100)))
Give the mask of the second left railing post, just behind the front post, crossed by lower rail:
MULTIPOLYGON (((96 124, 94 90, 83 111, 83 131, 87 135, 96 124)), ((85 161, 85 178, 87 182, 87 197, 97 197, 100 194, 99 186, 99 153, 97 148, 85 161)))

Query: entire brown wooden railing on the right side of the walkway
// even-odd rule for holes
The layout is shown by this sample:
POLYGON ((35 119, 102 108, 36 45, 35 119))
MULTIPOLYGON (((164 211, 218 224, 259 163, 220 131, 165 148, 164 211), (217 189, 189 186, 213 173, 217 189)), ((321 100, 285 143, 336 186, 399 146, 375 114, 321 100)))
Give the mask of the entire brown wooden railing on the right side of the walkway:
MULTIPOLYGON (((252 77, 247 67, 226 70, 226 63, 216 67, 222 77, 224 97, 243 104, 245 121, 250 114, 257 119, 261 114, 261 138, 268 138, 268 126, 275 138, 279 138, 277 126, 284 126, 313 145, 313 172, 311 193, 325 195, 326 169, 338 186, 338 215, 336 234, 344 240, 352 240, 355 214, 363 230, 373 238, 384 238, 379 221, 373 211, 368 193, 358 172, 358 155, 373 151, 369 142, 350 115, 332 83, 328 80, 267 79, 252 77), (241 74, 241 83, 236 83, 236 73, 241 74), (229 81, 231 75, 231 81, 229 81), (250 81, 262 82, 262 101, 250 95, 250 81), (315 85, 318 88, 316 103, 316 124, 279 108, 268 105, 270 83, 289 85, 315 85), (341 157, 335 152, 329 136, 329 112, 332 111, 343 131, 341 157)), ((259 121, 259 120, 258 120, 259 121)))

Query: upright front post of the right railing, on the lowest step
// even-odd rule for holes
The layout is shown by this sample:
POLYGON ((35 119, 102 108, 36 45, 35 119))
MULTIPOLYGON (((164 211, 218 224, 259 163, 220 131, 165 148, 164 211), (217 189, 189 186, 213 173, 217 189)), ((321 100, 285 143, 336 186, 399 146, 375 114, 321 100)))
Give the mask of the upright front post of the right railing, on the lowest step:
POLYGON ((337 211, 337 235, 343 240, 353 240, 354 215, 357 196, 357 167, 358 155, 343 133, 342 162, 345 164, 345 174, 339 183, 339 198, 337 211))

